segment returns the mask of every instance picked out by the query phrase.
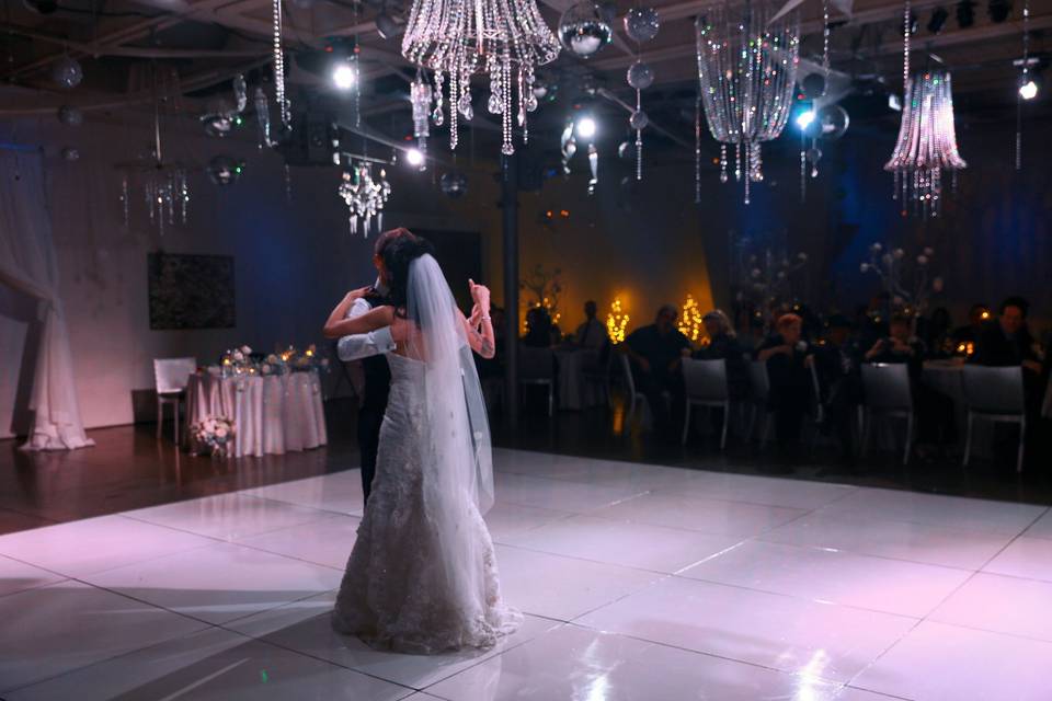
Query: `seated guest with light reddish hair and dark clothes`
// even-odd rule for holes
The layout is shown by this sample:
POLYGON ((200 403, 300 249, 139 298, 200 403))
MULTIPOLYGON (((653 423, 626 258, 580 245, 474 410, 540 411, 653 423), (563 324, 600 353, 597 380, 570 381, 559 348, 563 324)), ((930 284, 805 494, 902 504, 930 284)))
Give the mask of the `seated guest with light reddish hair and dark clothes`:
POLYGON ((803 416, 811 405, 810 368, 814 357, 801 338, 803 320, 797 314, 779 317, 775 332, 761 346, 757 358, 767 364, 768 403, 775 412, 779 453, 785 459, 793 459, 799 452, 803 416))

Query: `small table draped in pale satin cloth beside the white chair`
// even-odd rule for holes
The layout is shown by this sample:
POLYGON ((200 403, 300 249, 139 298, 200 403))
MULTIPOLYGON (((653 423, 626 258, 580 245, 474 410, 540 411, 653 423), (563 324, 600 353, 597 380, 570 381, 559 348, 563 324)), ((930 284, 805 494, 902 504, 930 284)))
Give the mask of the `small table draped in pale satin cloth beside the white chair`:
MULTIPOLYGON (((309 450, 328 443, 321 379, 315 371, 263 377, 192 375, 186 386, 186 424, 208 416, 233 421, 230 456, 235 458, 309 450)), ((188 430, 186 435, 193 443, 188 430)))

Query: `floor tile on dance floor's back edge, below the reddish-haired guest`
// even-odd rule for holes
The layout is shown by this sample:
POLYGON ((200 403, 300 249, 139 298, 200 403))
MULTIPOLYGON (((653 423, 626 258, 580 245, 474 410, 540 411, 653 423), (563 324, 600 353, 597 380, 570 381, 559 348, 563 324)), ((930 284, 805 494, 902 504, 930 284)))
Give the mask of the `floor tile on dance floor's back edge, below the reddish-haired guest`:
POLYGON ((702 479, 691 480, 678 487, 668 490, 670 493, 679 496, 803 509, 817 508, 838 502, 857 491, 857 487, 826 484, 824 482, 777 480, 716 472, 706 473, 702 479))

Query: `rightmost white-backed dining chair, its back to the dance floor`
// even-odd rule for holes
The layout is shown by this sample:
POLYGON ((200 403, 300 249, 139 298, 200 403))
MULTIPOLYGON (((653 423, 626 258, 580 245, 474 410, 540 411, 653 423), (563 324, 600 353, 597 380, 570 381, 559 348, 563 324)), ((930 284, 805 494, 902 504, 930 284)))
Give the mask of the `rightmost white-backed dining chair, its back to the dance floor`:
POLYGON ((968 411, 968 434, 964 438, 964 467, 972 458, 972 428, 975 420, 1019 424, 1019 451, 1016 472, 1022 472, 1026 447, 1027 411, 1022 390, 1022 368, 992 368, 965 365, 964 407, 968 411))

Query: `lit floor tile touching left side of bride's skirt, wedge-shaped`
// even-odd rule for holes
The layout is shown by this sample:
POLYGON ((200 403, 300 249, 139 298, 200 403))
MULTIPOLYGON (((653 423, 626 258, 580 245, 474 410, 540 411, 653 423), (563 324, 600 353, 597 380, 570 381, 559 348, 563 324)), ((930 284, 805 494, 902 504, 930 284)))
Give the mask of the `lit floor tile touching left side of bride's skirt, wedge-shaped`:
POLYGON ((347 565, 361 522, 362 519, 355 516, 331 514, 318 521, 239 538, 236 542, 342 570, 347 565))

